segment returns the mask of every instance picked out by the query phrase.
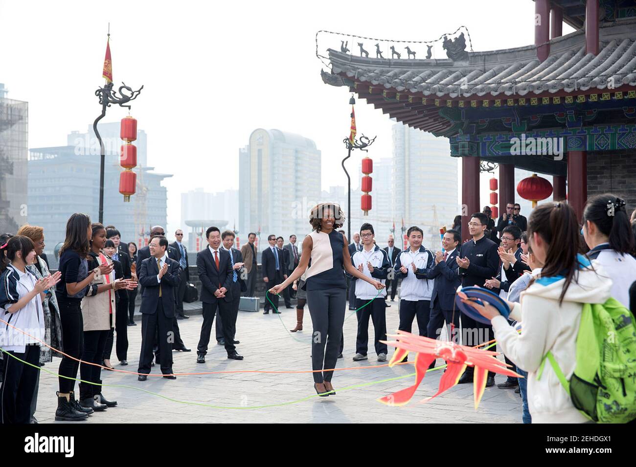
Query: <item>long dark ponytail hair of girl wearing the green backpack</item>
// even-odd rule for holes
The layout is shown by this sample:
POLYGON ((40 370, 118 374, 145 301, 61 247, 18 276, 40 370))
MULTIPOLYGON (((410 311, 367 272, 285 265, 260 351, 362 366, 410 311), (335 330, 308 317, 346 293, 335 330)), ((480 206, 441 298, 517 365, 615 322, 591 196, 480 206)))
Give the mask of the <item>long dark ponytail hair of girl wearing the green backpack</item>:
POLYGON ((544 203, 532 210, 528 219, 528 240, 537 233, 548 244, 541 276, 551 277, 565 273, 565 284, 559 305, 579 266, 579 223, 572 206, 566 203, 544 203))

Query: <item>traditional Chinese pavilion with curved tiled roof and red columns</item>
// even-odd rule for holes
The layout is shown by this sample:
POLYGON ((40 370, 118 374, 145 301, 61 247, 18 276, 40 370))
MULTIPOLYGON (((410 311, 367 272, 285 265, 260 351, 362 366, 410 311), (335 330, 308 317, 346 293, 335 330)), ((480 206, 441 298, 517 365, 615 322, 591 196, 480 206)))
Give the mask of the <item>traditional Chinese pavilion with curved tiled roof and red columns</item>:
POLYGON ((534 45, 466 51, 462 34, 445 37, 442 59, 420 58, 421 44, 409 44, 417 59, 385 58, 379 48, 378 58, 358 57, 341 46, 328 50, 322 78, 448 137, 450 155, 462 158, 468 214, 481 210, 481 161, 499 165, 500 212, 515 199, 515 167, 553 175, 555 199, 567 192, 579 218, 588 194, 611 190, 635 207, 636 0, 535 0, 535 10, 534 45), (562 36, 563 22, 576 32, 562 36), (520 155, 515 138, 556 138, 565 152, 520 155))

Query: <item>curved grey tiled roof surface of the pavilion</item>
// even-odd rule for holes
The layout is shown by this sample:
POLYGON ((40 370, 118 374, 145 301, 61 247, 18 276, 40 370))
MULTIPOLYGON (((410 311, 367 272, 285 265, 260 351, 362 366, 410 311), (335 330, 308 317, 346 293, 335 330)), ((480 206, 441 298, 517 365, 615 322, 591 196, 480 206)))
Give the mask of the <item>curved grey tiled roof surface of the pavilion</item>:
POLYGON ((398 92, 431 97, 533 95, 549 91, 636 86, 636 21, 600 28, 598 55, 585 53, 582 30, 550 41, 539 62, 536 46, 469 52, 467 60, 389 60, 354 57, 329 49, 333 74, 398 92))

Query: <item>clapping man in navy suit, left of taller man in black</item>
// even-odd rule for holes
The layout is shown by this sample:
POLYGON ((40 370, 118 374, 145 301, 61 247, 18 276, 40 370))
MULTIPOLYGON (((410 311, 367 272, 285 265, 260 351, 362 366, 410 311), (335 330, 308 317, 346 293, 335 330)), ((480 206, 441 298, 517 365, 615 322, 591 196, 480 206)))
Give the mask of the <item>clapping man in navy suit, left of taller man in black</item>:
POLYGON ((434 279, 433 292, 431 295, 431 318, 427 327, 429 337, 437 337, 441 327, 446 321, 448 339, 459 343, 455 339, 454 330, 459 331, 459 310, 455 309, 455 292, 462 283, 457 275, 457 246, 462 241, 459 232, 453 229, 447 230, 441 244, 443 252, 436 252, 435 266, 427 274, 427 278, 434 279), (453 312, 453 309, 455 311, 453 312))

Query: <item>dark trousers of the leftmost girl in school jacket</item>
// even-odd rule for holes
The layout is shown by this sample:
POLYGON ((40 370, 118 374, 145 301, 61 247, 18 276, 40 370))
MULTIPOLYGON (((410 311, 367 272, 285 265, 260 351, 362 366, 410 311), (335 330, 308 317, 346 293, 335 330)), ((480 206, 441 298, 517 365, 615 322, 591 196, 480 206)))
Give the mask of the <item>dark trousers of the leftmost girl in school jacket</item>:
POLYGON ((8 351, 25 362, 36 365, 36 368, 15 360, 13 356, 4 354, 3 382, 0 386, 2 410, 0 423, 27 424, 31 421, 31 403, 38 382, 39 345, 25 346, 24 353, 8 351))

